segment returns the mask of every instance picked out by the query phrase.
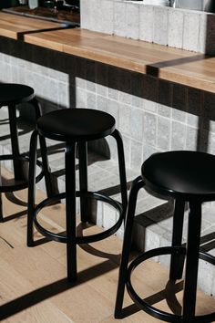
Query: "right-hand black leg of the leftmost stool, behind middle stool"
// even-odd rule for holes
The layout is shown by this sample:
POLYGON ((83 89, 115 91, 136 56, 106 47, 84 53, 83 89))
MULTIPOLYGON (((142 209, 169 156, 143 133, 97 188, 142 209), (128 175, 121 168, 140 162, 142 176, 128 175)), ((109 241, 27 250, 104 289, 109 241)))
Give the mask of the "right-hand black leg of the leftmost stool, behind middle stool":
MULTIPOLYGON (((36 120, 41 116, 41 106, 36 98, 32 99, 29 103, 31 103, 36 111, 36 120)), ((43 162, 43 169, 44 169, 44 177, 45 177, 45 183, 46 183, 46 194, 48 197, 51 197, 54 195, 54 189, 53 184, 51 181, 51 172, 48 165, 48 159, 47 159, 47 148, 46 148, 46 139, 39 135, 39 143, 40 143, 40 150, 41 150, 41 158, 43 162)))

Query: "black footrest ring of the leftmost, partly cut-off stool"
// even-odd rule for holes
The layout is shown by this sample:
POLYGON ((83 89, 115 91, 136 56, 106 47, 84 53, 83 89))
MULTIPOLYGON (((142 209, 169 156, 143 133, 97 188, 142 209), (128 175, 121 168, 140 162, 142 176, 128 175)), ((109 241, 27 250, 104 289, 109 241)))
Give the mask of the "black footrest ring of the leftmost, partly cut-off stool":
MULTIPOLYGON (((29 158, 24 155, 8 154, 8 155, 1 155, 0 161, 20 161, 24 164, 25 162, 29 163, 29 158)), ((42 164, 42 162, 36 160, 36 165, 40 168, 40 172, 36 176, 36 182, 39 182, 43 178, 43 175, 44 175, 43 164, 42 164)), ((28 180, 27 179, 23 179, 23 180, 13 179, 13 181, 14 181, 13 184, 10 184, 10 183, 8 185, 1 185, 0 184, 0 193, 7 193, 7 192, 24 190, 28 187, 28 180)))

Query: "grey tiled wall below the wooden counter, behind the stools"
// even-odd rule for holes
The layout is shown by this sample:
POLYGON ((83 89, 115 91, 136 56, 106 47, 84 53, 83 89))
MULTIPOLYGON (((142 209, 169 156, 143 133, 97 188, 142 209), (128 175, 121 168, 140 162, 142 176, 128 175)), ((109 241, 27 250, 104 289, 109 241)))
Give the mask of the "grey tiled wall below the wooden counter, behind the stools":
MULTIPOLYGON (((123 136, 128 182, 138 176, 141 163, 153 152, 188 149, 215 153, 215 94, 210 92, 4 37, 0 38, 0 71, 1 82, 32 86, 44 113, 53 109, 84 107, 101 109, 114 115, 123 136)), ((20 111, 22 119, 31 119, 30 107, 20 111)), ((4 133, 5 128, 0 137, 4 133)), ((23 151, 28 150, 29 135, 30 130, 23 131, 23 151)), ((59 189, 64 190, 63 147, 53 141, 48 141, 48 144, 52 151, 49 156, 52 170, 59 189)), ((5 153, 10 146, 9 140, 1 140, 0 146, 5 153)), ((94 142, 91 149, 110 155, 111 160, 98 158, 90 161, 89 188, 108 191, 118 185, 116 144, 107 138, 107 141, 94 142)), ((118 198, 118 194, 115 197, 118 198)), ((104 227, 111 225, 117 214, 107 209, 107 205, 99 204, 98 209, 102 213, 95 217, 97 224, 104 227)), ((172 202, 159 200, 144 191, 139 193, 134 229, 134 245, 138 249, 148 250, 170 244, 172 209, 172 202)), ((210 237, 214 237, 215 204, 205 203, 203 211, 203 246, 207 247, 210 237)), ((184 238, 186 234, 185 225, 184 238)), ((118 232, 118 236, 122 235, 123 228, 118 232)), ((210 249, 210 253, 214 254, 214 250, 210 249)), ((166 259, 160 257, 158 260, 167 265, 166 259)), ((207 279, 204 270, 201 270, 200 287, 215 295, 214 270, 210 271, 207 279)))

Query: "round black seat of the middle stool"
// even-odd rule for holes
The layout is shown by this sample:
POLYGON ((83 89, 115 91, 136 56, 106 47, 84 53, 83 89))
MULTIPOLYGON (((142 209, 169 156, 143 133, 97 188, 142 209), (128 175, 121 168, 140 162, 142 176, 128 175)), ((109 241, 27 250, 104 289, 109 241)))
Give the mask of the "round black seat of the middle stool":
POLYGON ((39 132, 56 141, 93 141, 115 130, 115 119, 96 109, 62 109, 37 120, 39 132))

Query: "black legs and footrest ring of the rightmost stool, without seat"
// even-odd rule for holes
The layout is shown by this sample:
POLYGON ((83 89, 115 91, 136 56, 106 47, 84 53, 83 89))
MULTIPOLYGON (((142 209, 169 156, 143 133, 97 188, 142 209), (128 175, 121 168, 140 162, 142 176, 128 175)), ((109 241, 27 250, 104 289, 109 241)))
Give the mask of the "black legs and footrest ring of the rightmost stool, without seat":
MULTIPOLYGON (((208 261, 215 266, 215 257, 204 252, 200 252, 200 225, 201 225, 201 203, 206 202, 204 198, 189 198, 188 201, 179 197, 175 198, 175 210, 173 215, 173 234, 172 244, 169 247, 160 247, 151 249, 139 255, 128 266, 128 256, 131 247, 132 228, 134 223, 135 209, 138 198, 138 191, 141 188, 147 187, 142 179, 138 176, 133 181, 128 199, 128 212, 126 216, 125 234, 122 248, 122 257, 119 267, 118 277, 118 292, 115 306, 115 318, 122 318, 122 306, 125 287, 127 286, 128 294, 139 308, 146 311, 149 315, 162 319, 167 322, 211 322, 215 320, 215 312, 195 316, 196 307, 196 292, 197 292, 197 277, 199 258, 208 261), (182 229, 184 219, 185 203, 189 202, 189 224, 188 224, 188 240, 187 246, 182 246, 182 229), (143 261, 156 255, 171 255, 169 279, 177 280, 182 277, 185 255, 185 283, 184 297, 182 305, 182 314, 174 315, 159 310, 156 307, 148 305, 143 299, 138 297, 131 283, 131 275, 133 270, 143 261)), ((158 193, 159 189, 157 189, 158 193)), ((160 189, 162 191, 162 189, 160 189)), ((161 193, 161 192, 160 192, 161 193)), ((163 192, 162 192, 163 193, 163 192)), ((177 193, 176 193, 177 195, 177 193)), ((215 198, 215 196, 214 196, 215 198)), ((210 196, 211 201, 211 196, 210 196)))

